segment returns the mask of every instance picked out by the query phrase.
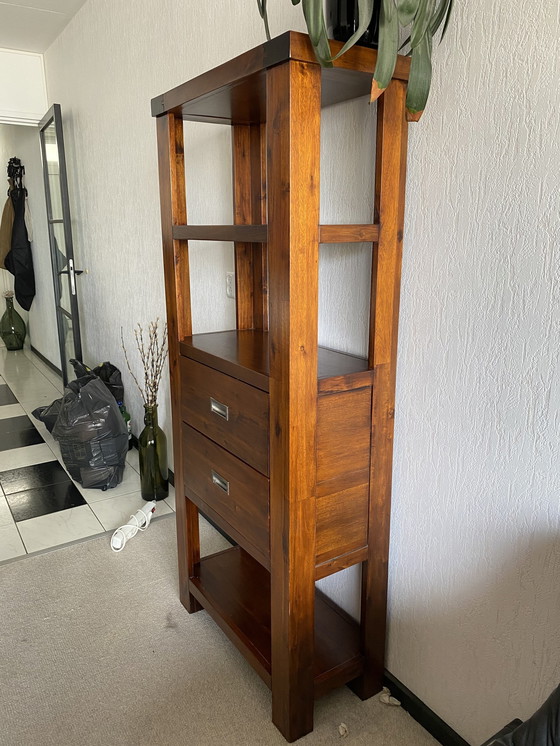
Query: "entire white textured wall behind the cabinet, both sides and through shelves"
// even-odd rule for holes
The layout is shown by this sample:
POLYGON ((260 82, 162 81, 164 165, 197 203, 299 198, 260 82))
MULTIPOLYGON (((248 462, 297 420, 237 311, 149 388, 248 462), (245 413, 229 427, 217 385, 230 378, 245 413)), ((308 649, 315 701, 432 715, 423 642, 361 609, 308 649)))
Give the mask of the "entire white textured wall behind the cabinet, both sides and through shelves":
MULTIPOLYGON (((259 43, 254 5, 89 0, 46 54, 90 269, 90 362, 124 367, 119 326, 130 337, 164 314, 150 98, 259 43)), ((272 5, 273 33, 301 28, 299 8, 272 5)), ((560 678, 558 23, 555 0, 457 4, 410 130, 388 667, 473 744, 560 678)), ((361 102, 325 113, 326 222, 371 214, 373 116, 361 102)), ((231 210, 228 149, 219 128, 191 128, 193 221, 231 210)), ((321 256, 321 341, 359 352, 368 251, 321 256)), ((227 246, 212 260, 195 247, 195 331, 233 325, 220 290, 230 262, 227 246)), ((167 383, 162 404, 169 429, 167 383)), ((131 410, 137 431, 137 399, 131 410)), ((356 607, 355 572, 328 585, 356 607)))

